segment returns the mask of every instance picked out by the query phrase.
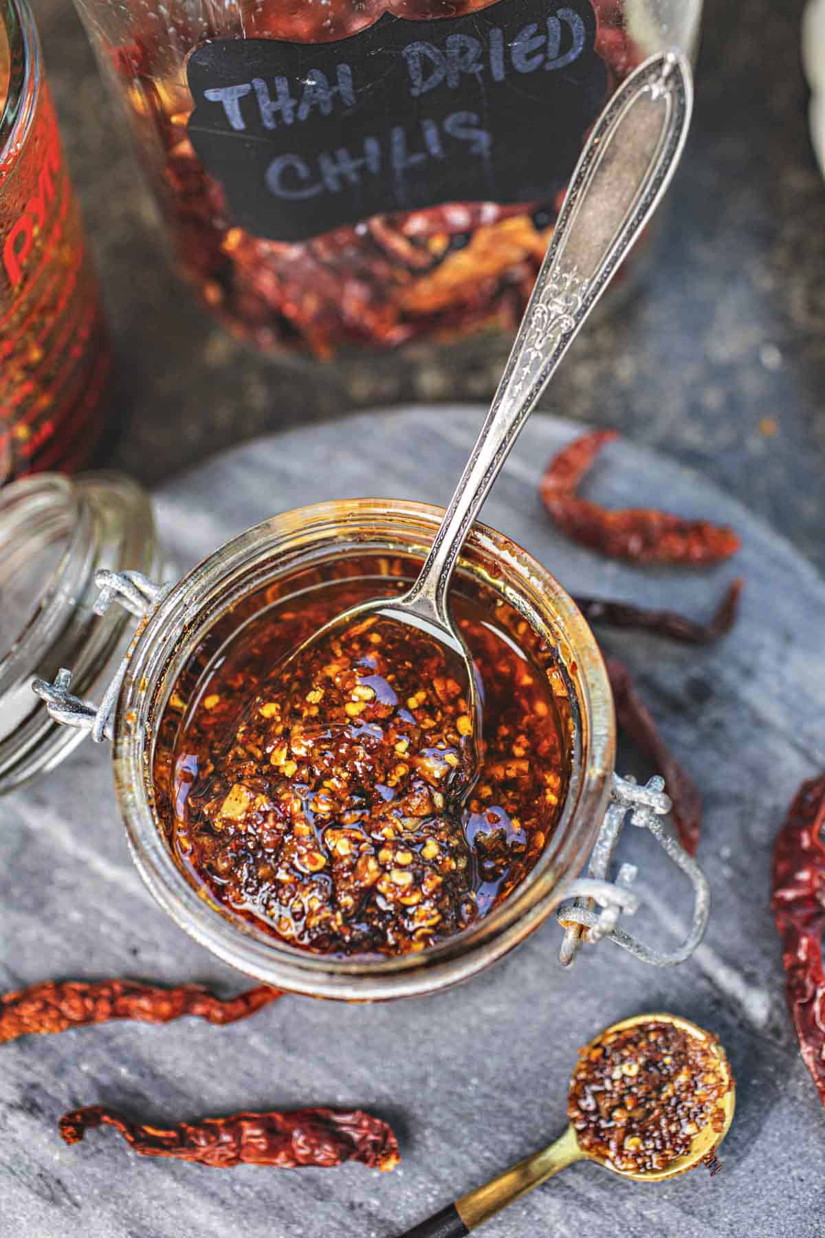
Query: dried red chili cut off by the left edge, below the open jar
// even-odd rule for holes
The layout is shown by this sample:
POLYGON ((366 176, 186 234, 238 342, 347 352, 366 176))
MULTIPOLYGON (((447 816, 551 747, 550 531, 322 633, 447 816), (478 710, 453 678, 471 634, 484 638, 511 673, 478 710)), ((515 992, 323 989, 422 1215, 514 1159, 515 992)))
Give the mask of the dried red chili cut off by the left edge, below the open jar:
POLYGON ((0 1045, 17 1036, 67 1031, 115 1019, 171 1023, 190 1014, 223 1026, 255 1014, 282 994, 266 984, 216 998, 199 984, 166 989, 137 980, 45 980, 0 998, 0 1045))

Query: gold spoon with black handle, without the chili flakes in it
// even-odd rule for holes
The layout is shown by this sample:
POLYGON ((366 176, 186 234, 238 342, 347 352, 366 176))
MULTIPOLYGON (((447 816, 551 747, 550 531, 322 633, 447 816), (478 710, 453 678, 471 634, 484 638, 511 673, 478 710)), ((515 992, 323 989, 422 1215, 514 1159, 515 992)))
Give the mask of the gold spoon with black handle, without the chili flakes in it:
POLYGON ((625 1031, 626 1028, 635 1028, 643 1023, 669 1023, 689 1036, 694 1036, 696 1040, 706 1044, 716 1060, 715 1066, 719 1071, 720 1082, 724 1084, 724 1092, 719 1101, 725 1115, 721 1129, 717 1130, 712 1124, 707 1123, 706 1127, 703 1127, 694 1135, 690 1151, 682 1156, 674 1156, 664 1169, 644 1171, 618 1170, 595 1153, 586 1151, 580 1146, 576 1132, 570 1125, 549 1148, 543 1148, 541 1151, 533 1153, 532 1156, 527 1156, 517 1165, 505 1170, 503 1174, 494 1177, 485 1186, 479 1186, 475 1191, 463 1195, 460 1200, 448 1205, 447 1208, 437 1212, 435 1216, 422 1221, 413 1229, 407 1229, 401 1234, 401 1238, 464 1238, 471 1229, 477 1229, 479 1226, 482 1226, 485 1221, 489 1221, 501 1208, 506 1208, 513 1200, 521 1198, 522 1195, 532 1191, 534 1186, 541 1186, 542 1182, 547 1182, 548 1177, 553 1177, 559 1170, 566 1169, 568 1165, 573 1165, 579 1160, 595 1161, 597 1165, 604 1165, 605 1169, 611 1170, 618 1177, 630 1177, 636 1182, 663 1182, 668 1177, 675 1177, 677 1174, 684 1174, 686 1170, 694 1169, 701 1161, 712 1156, 733 1120, 733 1107, 736 1103, 733 1076, 731 1075, 725 1050, 715 1036, 711 1036, 703 1028, 698 1028, 695 1023, 689 1023, 688 1019, 680 1019, 674 1014, 637 1014, 632 1019, 625 1019, 622 1023, 615 1023, 612 1026, 606 1028, 590 1041, 585 1052, 595 1047, 599 1041, 611 1032, 625 1031))

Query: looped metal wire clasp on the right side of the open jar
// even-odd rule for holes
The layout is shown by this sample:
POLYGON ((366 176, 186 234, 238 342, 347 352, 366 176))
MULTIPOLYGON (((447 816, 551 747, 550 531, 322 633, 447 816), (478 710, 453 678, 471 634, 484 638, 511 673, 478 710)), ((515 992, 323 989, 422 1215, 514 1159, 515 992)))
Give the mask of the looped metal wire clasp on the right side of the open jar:
POLYGON ((563 903, 555 912, 559 924, 564 926, 564 941, 559 952, 564 967, 570 966, 583 941, 597 942, 601 937, 610 937, 617 946, 652 967, 673 967, 693 954, 707 926, 710 886, 696 862, 665 828, 664 817, 669 811, 670 800, 664 794, 664 779, 656 775, 646 786, 639 786, 632 777, 613 774, 607 812, 590 855, 589 877, 570 883, 568 894, 573 895, 573 901, 563 903), (631 823, 649 829, 693 884, 693 922, 685 941, 677 950, 654 950, 617 925, 620 914, 626 911, 632 915, 639 901, 631 890, 637 874, 633 864, 622 864, 616 880, 607 880, 618 836, 628 813, 631 823), (601 911, 594 909, 594 901, 602 907, 601 911))

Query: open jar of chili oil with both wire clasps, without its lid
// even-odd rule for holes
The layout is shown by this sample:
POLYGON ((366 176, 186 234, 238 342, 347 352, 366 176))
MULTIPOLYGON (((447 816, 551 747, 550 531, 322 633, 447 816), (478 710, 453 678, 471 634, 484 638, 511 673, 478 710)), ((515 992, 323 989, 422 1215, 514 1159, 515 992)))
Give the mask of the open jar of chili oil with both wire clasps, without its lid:
MULTIPOLYGON (((266 754, 259 747, 250 719, 254 727, 277 721, 270 659, 341 599, 396 592, 417 573, 440 516, 437 508, 403 501, 318 504, 257 525, 174 586, 104 573, 103 600, 120 598, 140 621, 100 706, 69 691, 68 671, 51 685, 35 683, 53 718, 114 739, 115 790, 132 855, 160 905, 218 957, 277 988, 354 1000, 421 994, 492 963, 557 909, 565 924, 579 915, 595 924, 570 898, 595 894, 618 909, 627 891, 601 879, 576 883, 594 839, 606 875, 628 808, 667 811, 660 789, 636 789, 613 775, 610 688, 575 604, 531 556, 484 526, 468 539, 454 584, 487 693, 481 779, 458 825, 455 805, 450 811, 438 795, 468 733, 460 687, 413 659, 417 682, 407 697, 409 666, 392 652, 382 661, 386 649, 374 650, 371 634, 369 673, 346 698, 353 728, 343 747, 340 730, 330 745, 329 786, 298 786, 307 733, 291 730, 288 745, 267 743, 266 754), (372 707, 361 717, 367 699, 383 713, 372 707), (532 734, 519 724, 524 713, 532 734), (378 714, 385 723, 393 716, 386 728, 378 714), (382 737, 393 754, 391 768, 378 770, 388 755, 382 737), (369 784, 388 810, 382 818, 372 799, 369 838, 365 813, 340 802, 351 773, 340 754, 351 740, 355 748, 364 740, 364 754, 375 756, 367 769, 364 754, 349 749, 361 761, 357 794, 369 784), (292 800, 287 787, 281 805, 261 808, 273 790, 284 791, 283 777, 292 780, 292 800), (210 795, 209 786, 221 782, 210 795), (334 823, 330 800, 339 800, 334 823), (278 877, 289 890, 275 907, 278 877), (330 925, 325 912, 335 900, 346 911, 349 896, 365 907, 374 899, 371 909, 330 925)), ((301 699, 312 729, 318 688, 301 699)), ((688 938, 662 956, 606 924, 604 932, 662 966, 680 962, 701 940, 707 901, 695 862, 674 839, 657 837, 694 885, 688 938)), ((566 927, 564 957, 571 932, 566 927)))

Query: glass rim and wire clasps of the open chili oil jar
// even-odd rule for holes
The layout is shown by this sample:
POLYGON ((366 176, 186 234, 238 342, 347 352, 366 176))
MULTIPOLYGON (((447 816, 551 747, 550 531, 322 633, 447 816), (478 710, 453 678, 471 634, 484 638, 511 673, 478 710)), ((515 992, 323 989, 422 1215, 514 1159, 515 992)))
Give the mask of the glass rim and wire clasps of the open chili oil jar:
MULTIPOLYGON (((660 780, 636 787, 616 779, 615 719, 610 687, 595 639, 571 598, 526 551, 476 525, 464 547, 455 584, 475 582, 502 598, 552 651, 559 691, 570 704, 569 790, 555 832, 528 877, 487 916, 453 937, 398 957, 312 954, 280 942, 250 922, 230 917, 189 883, 172 855, 155 784, 163 719, 176 693, 186 707, 194 691, 187 670, 205 646, 224 641, 271 604, 273 592, 302 571, 340 571, 348 558, 374 553, 423 561, 443 513, 401 500, 357 499, 289 511, 226 542, 177 584, 157 587, 136 573, 104 573, 104 602, 121 598, 143 610, 127 656, 100 707, 69 692, 68 671, 36 691, 52 716, 93 737, 114 740, 115 794, 135 863, 158 904, 198 942, 241 972, 296 993, 348 1000, 383 1000, 455 984, 495 962, 554 911, 566 925, 564 961, 583 928, 611 936, 648 962, 679 962, 695 947, 707 917, 707 885, 693 862, 660 828, 669 801, 660 780), (607 811, 605 811, 607 810, 607 811), (633 910, 630 873, 607 880, 625 816, 647 825, 690 878, 694 924, 683 946, 657 954, 616 927, 620 910, 633 910), (590 877, 576 881, 599 839, 590 877), (570 899, 578 901, 570 901, 570 899), (592 900, 604 911, 594 910, 592 900), (583 901, 584 900, 584 901, 583 901), (562 904, 564 907, 562 909, 562 904)), ((390 567, 385 574, 390 573, 390 567)), ((287 595, 288 591, 287 591, 287 595)))

